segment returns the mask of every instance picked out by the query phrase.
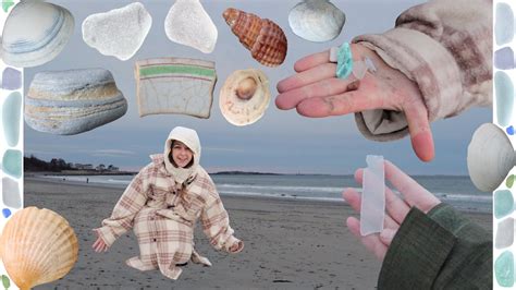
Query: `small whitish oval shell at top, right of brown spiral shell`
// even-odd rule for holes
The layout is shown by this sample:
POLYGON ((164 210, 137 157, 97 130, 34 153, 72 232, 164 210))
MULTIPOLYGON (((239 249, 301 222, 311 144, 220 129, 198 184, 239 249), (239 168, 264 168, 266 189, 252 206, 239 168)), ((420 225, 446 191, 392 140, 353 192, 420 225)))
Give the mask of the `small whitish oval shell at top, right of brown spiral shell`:
POLYGON ((297 36, 315 43, 334 39, 341 34, 346 15, 328 0, 305 0, 288 13, 288 24, 297 36))

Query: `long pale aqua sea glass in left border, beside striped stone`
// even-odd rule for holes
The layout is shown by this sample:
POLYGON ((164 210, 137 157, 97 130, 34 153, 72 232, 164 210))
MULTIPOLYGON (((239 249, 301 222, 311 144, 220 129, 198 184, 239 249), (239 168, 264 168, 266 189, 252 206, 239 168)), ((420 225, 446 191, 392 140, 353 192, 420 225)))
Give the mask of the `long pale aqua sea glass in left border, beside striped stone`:
POLYGON ((11 147, 16 146, 20 140, 20 121, 22 117, 22 95, 11 93, 2 108, 3 136, 11 147))

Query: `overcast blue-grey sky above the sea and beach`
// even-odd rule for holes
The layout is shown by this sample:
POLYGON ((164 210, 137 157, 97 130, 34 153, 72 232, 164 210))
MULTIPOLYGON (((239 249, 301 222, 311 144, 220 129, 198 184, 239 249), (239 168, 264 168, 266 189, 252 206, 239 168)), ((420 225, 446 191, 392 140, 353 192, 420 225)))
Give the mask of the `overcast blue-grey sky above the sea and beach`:
POLYGON ((169 132, 176 125, 195 129, 200 137, 200 164, 210 172, 245 170, 280 173, 349 174, 366 166, 366 155, 383 155, 409 174, 467 174, 467 146, 475 130, 491 122, 491 108, 475 108, 452 119, 432 123, 435 158, 420 161, 414 154, 410 140, 379 143, 366 140, 357 130, 354 116, 321 119, 305 118, 295 110, 275 108, 279 81, 294 73, 299 58, 349 41, 354 36, 382 33, 394 26, 404 10, 423 1, 332 1, 346 14, 341 35, 328 43, 310 43, 294 35, 288 26, 288 11, 297 0, 281 1, 201 1, 216 24, 219 37, 211 53, 169 40, 164 19, 173 1, 144 1, 152 16, 152 26, 145 43, 127 61, 100 55, 82 38, 81 26, 90 14, 122 8, 132 1, 51 1, 69 9, 75 17, 75 31, 64 50, 51 62, 25 69, 25 92, 35 73, 71 69, 103 68, 113 74, 116 86, 128 102, 122 118, 77 135, 61 136, 37 132, 25 124, 25 155, 50 160, 63 158, 69 162, 114 165, 137 171, 149 162, 149 155, 162 153, 169 132), (250 57, 225 24, 222 12, 237 8, 278 23, 288 40, 284 63, 267 68, 250 57), (209 119, 182 114, 138 117, 134 63, 157 57, 186 57, 216 62, 218 82, 209 119), (226 77, 235 70, 255 68, 263 71, 270 82, 271 104, 262 119, 247 126, 234 126, 219 109, 219 92, 226 77))

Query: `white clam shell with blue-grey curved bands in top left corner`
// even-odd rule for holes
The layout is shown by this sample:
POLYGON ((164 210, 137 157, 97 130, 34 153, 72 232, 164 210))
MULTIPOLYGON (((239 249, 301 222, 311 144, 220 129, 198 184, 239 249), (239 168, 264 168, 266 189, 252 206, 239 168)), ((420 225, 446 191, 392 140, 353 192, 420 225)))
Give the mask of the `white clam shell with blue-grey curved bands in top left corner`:
POLYGON ((63 50, 73 29, 74 19, 66 9, 42 1, 21 1, 3 26, 3 61, 21 68, 44 64, 63 50))

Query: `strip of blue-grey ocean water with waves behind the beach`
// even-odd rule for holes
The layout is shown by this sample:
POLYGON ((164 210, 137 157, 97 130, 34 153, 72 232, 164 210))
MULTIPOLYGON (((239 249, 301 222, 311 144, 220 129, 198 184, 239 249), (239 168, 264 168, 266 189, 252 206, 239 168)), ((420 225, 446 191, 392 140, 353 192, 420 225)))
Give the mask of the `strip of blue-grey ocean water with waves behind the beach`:
MULTIPOLYGON (((72 182, 100 183, 125 188, 131 176, 47 176, 72 182)), ((342 202, 342 191, 358 184, 353 176, 284 176, 284 174, 211 174, 217 190, 223 195, 269 196, 325 202, 342 202)), ((478 191, 469 177, 421 176, 413 177, 441 201, 470 212, 492 213, 491 193, 478 191)), ((389 185, 389 184, 388 184, 389 185)), ((392 188, 391 188, 392 189, 392 188)))

